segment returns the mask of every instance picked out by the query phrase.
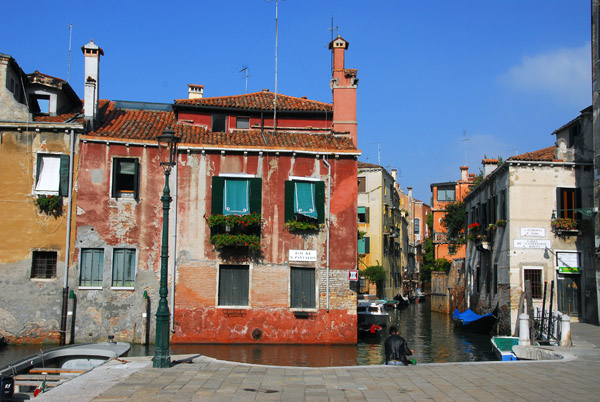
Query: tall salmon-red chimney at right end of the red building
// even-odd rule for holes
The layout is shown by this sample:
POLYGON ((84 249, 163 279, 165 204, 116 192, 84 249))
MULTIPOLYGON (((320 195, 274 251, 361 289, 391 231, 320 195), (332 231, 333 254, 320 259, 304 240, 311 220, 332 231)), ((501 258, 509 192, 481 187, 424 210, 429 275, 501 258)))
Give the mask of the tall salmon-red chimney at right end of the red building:
POLYGON ((341 36, 329 44, 333 53, 333 71, 329 86, 333 92, 333 124, 331 129, 339 134, 349 135, 358 146, 356 121, 357 70, 344 68, 344 56, 350 44, 341 36))

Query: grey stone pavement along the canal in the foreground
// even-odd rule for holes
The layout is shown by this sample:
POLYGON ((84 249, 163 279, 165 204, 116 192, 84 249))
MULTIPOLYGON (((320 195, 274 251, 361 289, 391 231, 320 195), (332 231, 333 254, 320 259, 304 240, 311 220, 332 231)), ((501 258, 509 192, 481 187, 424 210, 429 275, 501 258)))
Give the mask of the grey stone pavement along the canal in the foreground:
POLYGON ((301 368, 173 356, 111 361, 39 401, 593 401, 600 399, 600 327, 572 323, 558 361, 301 368))

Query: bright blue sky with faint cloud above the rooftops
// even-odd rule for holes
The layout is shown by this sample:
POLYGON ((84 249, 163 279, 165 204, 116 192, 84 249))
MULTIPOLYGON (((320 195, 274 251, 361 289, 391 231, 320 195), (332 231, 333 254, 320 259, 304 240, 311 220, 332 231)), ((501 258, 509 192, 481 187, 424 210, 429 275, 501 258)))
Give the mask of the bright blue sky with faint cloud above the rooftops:
POLYGON ((397 169, 429 203, 431 183, 551 146, 591 105, 590 3, 6 2, 0 53, 68 79, 80 97, 90 39, 104 50, 102 99, 172 102, 188 84, 205 97, 274 91, 277 15, 277 92, 331 103, 333 26, 350 43, 345 67, 358 69, 359 160, 397 169))

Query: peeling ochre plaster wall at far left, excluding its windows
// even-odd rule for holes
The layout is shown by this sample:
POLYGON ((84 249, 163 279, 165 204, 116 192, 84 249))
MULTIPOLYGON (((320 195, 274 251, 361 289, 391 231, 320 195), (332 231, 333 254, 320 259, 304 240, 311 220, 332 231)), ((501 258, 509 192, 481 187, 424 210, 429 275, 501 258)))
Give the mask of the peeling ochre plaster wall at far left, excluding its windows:
POLYGON ((38 152, 69 154, 69 134, 42 128, 4 129, 0 135, 0 170, 10 189, 0 195, 0 334, 11 343, 54 343, 61 320, 69 205, 63 198, 64 212, 57 218, 38 211, 36 163, 38 152), (33 251, 56 251, 55 277, 31 279, 33 251))

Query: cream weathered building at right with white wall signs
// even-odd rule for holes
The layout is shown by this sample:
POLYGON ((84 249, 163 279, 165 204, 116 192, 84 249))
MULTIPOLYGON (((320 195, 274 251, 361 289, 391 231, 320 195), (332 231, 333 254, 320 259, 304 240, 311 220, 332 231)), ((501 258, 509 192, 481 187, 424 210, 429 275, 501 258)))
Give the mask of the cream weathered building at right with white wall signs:
POLYGON ((468 306, 501 309, 512 332, 524 283, 536 306, 597 322, 592 231, 591 108, 556 130, 556 146, 509 158, 465 198, 468 306), (546 300, 546 308, 550 303, 546 300))

